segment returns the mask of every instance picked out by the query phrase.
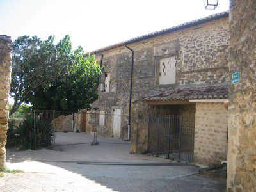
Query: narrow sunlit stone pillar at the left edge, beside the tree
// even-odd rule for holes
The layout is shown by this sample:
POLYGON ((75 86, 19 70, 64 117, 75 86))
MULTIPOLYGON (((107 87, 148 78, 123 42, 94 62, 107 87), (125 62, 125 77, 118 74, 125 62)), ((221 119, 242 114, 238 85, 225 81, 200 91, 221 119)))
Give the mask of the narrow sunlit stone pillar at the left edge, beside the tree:
POLYGON ((6 160, 5 145, 8 128, 8 97, 12 72, 12 40, 0 35, 0 168, 6 160))

